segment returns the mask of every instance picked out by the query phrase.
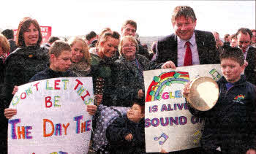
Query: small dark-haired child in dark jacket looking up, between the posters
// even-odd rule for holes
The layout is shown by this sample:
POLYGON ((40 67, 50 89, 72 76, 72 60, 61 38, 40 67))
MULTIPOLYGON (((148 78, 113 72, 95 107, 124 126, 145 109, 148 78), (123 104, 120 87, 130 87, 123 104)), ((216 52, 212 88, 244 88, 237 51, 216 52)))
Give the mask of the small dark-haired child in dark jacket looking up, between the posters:
POLYGON ((127 115, 116 118, 106 131, 111 154, 143 154, 145 147, 145 101, 135 99, 127 115))

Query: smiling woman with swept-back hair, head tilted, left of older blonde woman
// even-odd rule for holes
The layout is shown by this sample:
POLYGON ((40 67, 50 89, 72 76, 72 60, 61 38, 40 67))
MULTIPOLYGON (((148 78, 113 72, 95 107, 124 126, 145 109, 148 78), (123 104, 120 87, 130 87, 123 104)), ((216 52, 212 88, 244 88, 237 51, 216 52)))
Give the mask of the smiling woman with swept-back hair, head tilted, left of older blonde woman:
POLYGON ((118 51, 119 37, 116 31, 103 32, 96 45, 97 54, 91 54, 91 76, 94 81, 94 97, 97 105, 116 106, 113 57, 118 51))

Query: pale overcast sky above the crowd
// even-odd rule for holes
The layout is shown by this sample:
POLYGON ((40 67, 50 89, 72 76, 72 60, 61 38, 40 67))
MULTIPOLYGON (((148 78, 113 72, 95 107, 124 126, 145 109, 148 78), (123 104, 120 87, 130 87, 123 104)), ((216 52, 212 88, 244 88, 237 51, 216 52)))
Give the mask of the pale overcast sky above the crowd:
POLYGON ((255 1, 84 1, 4 0, 0 28, 18 28, 23 17, 37 19, 40 26, 52 26, 54 36, 99 33, 110 27, 121 31, 124 20, 138 23, 140 36, 173 33, 170 15, 178 5, 189 5, 197 16, 197 29, 234 34, 238 28, 255 28, 255 1))

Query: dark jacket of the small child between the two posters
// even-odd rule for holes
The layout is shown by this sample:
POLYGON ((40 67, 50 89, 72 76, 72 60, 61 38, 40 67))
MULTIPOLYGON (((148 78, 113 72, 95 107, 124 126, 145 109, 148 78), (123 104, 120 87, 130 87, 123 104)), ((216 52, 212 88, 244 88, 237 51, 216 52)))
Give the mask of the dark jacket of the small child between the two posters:
POLYGON ((110 143, 111 154, 143 154, 145 147, 145 120, 132 122, 127 115, 116 118, 106 131, 110 143), (132 141, 125 140, 125 136, 132 134, 132 141))

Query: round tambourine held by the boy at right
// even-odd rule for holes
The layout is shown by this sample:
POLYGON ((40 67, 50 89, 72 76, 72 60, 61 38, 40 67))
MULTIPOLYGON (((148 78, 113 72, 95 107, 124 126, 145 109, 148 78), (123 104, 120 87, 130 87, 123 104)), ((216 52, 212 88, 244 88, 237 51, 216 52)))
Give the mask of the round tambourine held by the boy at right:
POLYGON ((191 107, 199 111, 211 109, 219 99, 219 86, 211 77, 197 77, 189 88, 187 100, 191 107))

